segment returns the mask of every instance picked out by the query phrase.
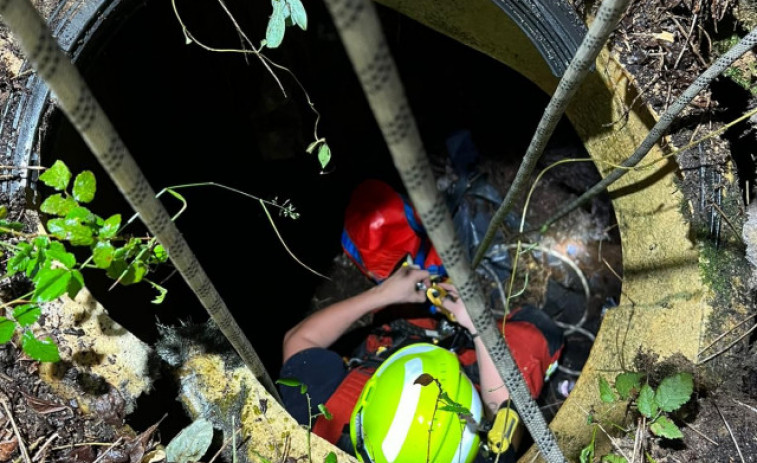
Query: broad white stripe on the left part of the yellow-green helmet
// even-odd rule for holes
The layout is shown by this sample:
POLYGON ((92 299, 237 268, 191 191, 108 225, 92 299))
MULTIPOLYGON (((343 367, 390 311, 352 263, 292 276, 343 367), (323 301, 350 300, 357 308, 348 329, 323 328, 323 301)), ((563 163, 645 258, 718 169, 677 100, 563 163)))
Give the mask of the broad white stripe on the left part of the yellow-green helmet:
POLYGON ((410 425, 413 423, 418 401, 421 397, 421 386, 413 383, 422 373, 423 361, 421 359, 414 358, 405 363, 405 386, 402 388, 392 424, 381 443, 381 450, 390 463, 399 455, 400 449, 405 444, 410 425))

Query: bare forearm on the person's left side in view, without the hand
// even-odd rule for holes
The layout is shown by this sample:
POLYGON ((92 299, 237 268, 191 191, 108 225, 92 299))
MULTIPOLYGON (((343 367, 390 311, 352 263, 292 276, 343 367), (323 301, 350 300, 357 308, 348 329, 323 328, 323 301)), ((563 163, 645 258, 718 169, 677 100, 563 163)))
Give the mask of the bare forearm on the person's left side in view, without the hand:
POLYGON ((376 286, 315 312, 284 335, 283 361, 311 347, 329 347, 360 317, 391 303, 376 286))

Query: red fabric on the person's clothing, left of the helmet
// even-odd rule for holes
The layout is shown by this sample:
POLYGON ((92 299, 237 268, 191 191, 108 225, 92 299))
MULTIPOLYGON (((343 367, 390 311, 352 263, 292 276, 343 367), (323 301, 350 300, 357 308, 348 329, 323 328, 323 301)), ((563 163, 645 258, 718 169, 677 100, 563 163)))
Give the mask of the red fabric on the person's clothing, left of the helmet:
POLYGON ((344 427, 350 423, 352 409, 355 408, 363 386, 373 375, 373 368, 358 367, 347 373, 336 392, 324 404, 332 418, 327 420, 323 415, 315 420, 313 432, 332 444, 336 444, 341 437, 344 427))

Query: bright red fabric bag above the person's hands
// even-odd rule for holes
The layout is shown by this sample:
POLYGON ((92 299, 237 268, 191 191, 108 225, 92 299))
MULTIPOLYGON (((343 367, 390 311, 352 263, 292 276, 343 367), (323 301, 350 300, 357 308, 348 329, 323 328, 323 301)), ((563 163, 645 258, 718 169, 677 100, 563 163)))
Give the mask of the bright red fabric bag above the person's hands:
MULTIPOLYGON (((416 223, 421 221, 413 210, 416 223)), ((366 180, 355 189, 347 205, 344 230, 357 248, 362 265, 347 255, 368 277, 383 281, 408 254, 415 257, 421 238, 407 221, 405 202, 389 185, 366 180)), ((435 249, 430 249, 424 267, 441 265, 435 249)))

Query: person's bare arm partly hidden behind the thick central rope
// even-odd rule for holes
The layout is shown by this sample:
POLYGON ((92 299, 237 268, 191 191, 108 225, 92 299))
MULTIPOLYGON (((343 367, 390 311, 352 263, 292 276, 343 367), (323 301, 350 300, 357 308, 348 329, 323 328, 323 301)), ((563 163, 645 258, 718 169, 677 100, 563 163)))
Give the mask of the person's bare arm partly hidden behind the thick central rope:
POLYGON ((486 405, 490 416, 493 416, 497 413, 500 405, 510 397, 510 392, 505 387, 505 382, 499 375, 494 361, 484 347, 484 342, 480 336, 476 335, 476 328, 473 327, 473 322, 465 309, 463 300, 458 296, 457 290, 450 284, 442 283, 440 286, 456 297, 455 302, 449 299, 445 300, 444 307, 455 315, 460 326, 474 336, 473 344, 476 347, 476 360, 478 361, 479 381, 481 382, 481 400, 486 405))

